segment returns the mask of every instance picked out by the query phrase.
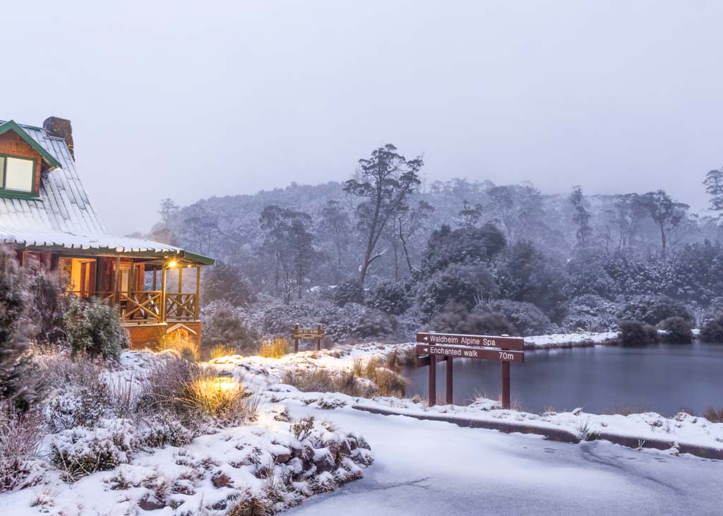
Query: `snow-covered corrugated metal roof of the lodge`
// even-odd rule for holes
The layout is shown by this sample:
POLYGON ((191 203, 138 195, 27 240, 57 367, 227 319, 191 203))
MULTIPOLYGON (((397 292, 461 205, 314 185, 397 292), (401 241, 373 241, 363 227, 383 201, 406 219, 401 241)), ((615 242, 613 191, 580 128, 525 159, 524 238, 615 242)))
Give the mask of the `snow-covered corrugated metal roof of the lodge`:
POLYGON ((184 252, 178 247, 142 238, 108 235, 65 140, 49 136, 40 127, 18 125, 54 156, 62 168, 43 173, 40 197, 36 199, 0 197, 0 242, 111 252, 184 252))

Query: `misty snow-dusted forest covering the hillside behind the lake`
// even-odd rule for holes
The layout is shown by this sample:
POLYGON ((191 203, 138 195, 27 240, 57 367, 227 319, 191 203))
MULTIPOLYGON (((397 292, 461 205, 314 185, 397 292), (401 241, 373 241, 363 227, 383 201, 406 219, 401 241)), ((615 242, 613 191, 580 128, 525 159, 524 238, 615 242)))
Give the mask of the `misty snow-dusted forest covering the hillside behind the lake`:
POLYGON ((388 144, 340 181, 163 199, 145 236, 217 259, 203 278, 211 345, 250 349, 295 322, 336 340, 422 327, 723 337, 723 168, 701 172, 706 215, 661 189, 546 194, 425 177, 421 157, 388 144))

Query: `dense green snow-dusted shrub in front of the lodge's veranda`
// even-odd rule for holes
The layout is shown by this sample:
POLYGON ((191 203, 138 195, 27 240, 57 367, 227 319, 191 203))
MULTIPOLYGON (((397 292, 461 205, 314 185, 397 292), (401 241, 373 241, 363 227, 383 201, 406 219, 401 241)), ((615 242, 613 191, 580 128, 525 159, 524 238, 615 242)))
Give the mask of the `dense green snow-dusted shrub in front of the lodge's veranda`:
POLYGON ((73 353, 84 353, 90 358, 100 355, 103 360, 117 359, 129 346, 118 311, 111 306, 72 298, 66 322, 73 353))

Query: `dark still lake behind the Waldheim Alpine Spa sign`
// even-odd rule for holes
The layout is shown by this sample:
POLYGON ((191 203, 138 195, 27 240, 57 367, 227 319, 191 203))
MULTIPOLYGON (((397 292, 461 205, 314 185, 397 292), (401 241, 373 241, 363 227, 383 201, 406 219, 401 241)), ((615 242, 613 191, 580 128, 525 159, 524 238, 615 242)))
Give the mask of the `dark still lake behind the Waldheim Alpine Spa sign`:
MULTIPOLYGON (((407 369, 407 395, 427 397, 427 368, 407 369)), ((476 392, 497 399, 500 363, 455 358, 454 402, 466 405, 476 392)), ((593 413, 630 407, 666 416, 688 408, 696 414, 723 407, 723 344, 656 344, 628 348, 595 346, 525 352, 510 364, 512 401, 541 412, 582 407, 593 413)), ((437 401, 445 400, 445 364, 437 364, 437 401)), ((636 410, 638 411, 638 410, 636 410)))

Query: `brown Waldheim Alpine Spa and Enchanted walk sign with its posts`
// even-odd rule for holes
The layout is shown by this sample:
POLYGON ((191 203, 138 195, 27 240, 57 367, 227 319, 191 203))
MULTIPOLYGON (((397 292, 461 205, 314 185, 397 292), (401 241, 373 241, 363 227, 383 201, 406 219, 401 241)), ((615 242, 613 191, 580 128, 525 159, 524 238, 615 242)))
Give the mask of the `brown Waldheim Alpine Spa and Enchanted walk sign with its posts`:
POLYGON ((499 361, 502 365, 502 408, 510 408, 510 362, 524 362, 525 340, 521 337, 495 335, 461 335, 456 333, 417 333, 417 367, 429 367, 429 405, 437 404, 437 369, 439 360, 447 362, 447 403, 453 403, 453 358, 479 358, 499 361))

